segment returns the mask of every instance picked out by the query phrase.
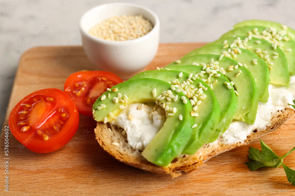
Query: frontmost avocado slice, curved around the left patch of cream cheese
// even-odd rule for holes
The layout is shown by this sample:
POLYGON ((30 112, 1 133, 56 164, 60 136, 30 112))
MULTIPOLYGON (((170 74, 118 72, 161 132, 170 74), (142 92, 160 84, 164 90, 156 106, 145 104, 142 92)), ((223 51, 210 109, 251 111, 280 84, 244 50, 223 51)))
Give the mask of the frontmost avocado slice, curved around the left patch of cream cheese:
MULTIPOLYGON (((109 113, 112 112, 113 116, 119 115, 123 108, 126 107, 126 103, 118 101, 114 103, 114 97, 121 97, 124 100, 124 95, 128 97, 128 105, 132 103, 155 103, 156 98, 164 91, 171 88, 171 85, 167 82, 151 79, 151 78, 140 78, 136 80, 126 81, 119 83, 112 87, 111 90, 103 93, 93 105, 93 117, 96 121, 104 121, 105 117, 107 122, 111 121, 109 113), (116 91, 117 88, 117 92, 116 91), (153 95, 153 90, 156 89, 156 96, 153 95), (108 95, 110 93, 110 98, 108 95), (120 95, 120 94, 121 95, 120 95), (101 100, 103 99, 103 100, 101 100), (101 107, 104 104, 106 107, 101 107), (121 108, 119 108, 121 106, 121 108)), ((145 150, 142 151, 142 155, 151 163, 159 166, 167 166, 171 161, 181 154, 182 150, 189 141, 192 133, 192 125, 194 125, 194 117, 190 115, 192 106, 187 100, 185 104, 181 97, 184 96, 182 92, 176 93, 172 91, 174 96, 178 96, 178 99, 174 102, 171 101, 169 107, 177 108, 177 111, 173 116, 167 116, 167 119, 156 134, 153 140, 147 145, 145 150), (179 115, 182 115, 182 120, 179 120, 179 115)), ((114 99, 115 100, 115 99, 114 99)), ((167 103, 166 99, 161 100, 162 103, 167 103)), ((169 111, 170 113, 170 111, 169 111)))

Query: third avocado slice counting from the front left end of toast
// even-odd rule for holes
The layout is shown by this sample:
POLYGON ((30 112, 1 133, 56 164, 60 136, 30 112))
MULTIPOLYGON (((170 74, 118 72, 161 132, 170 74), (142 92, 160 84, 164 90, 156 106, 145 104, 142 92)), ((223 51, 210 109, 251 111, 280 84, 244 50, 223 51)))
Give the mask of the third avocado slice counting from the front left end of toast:
MULTIPOLYGON (((185 71, 186 73, 192 73, 196 75, 202 70, 202 66, 195 65, 184 65, 184 66, 171 66, 171 70, 185 71)), ((224 82, 230 82, 221 72, 217 71, 217 75, 214 74, 211 77, 211 80, 208 85, 212 84, 212 91, 216 96, 219 106, 220 106, 220 120, 215 134, 212 135, 211 140, 215 141, 219 135, 222 135, 232 122, 232 119, 235 116, 237 110, 237 96, 234 92, 234 88, 228 89, 224 82), (216 82, 215 82, 216 81, 216 82), (214 85, 213 85, 214 83, 214 85)), ((201 75, 196 75, 200 79, 209 78, 209 73, 204 73, 201 75)))

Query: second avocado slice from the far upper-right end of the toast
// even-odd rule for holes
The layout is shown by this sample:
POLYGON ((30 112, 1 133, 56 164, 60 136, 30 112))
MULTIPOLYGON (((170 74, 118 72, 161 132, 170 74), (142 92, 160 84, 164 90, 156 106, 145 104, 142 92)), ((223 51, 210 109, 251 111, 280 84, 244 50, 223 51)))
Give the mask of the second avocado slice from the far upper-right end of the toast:
POLYGON ((232 35, 237 36, 249 36, 265 39, 271 43, 276 43, 278 48, 281 48, 287 58, 288 70, 290 76, 295 75, 295 41, 283 35, 278 34, 276 31, 271 31, 270 28, 265 26, 243 26, 242 28, 235 28, 221 36, 221 38, 231 37, 232 35))

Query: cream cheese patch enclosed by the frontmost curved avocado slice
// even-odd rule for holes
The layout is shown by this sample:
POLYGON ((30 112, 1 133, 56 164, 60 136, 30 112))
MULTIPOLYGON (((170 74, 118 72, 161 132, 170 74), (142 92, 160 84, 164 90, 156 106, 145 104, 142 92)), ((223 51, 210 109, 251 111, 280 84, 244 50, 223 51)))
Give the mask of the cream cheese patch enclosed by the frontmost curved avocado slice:
MULTIPOLYGON (((128 105, 117 117, 110 123, 122 127, 127 134, 128 143, 136 150, 143 150, 163 127, 165 115, 151 115, 153 105, 145 105, 143 109, 137 109, 140 103, 128 105), (148 112, 147 112, 148 111, 148 112), (132 120, 128 117, 133 115, 132 120), (160 117, 161 116, 161 117, 160 117)), ((162 108, 160 108, 162 109, 162 108)), ((164 110, 163 110, 164 113, 164 110)))

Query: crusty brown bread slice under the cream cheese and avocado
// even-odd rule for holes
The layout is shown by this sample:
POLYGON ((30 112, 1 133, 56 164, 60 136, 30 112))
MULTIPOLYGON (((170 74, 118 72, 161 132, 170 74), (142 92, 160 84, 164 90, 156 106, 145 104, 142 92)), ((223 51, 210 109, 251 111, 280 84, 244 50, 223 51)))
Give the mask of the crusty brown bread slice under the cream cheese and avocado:
POLYGON ((220 153, 242 145, 248 145, 253 140, 275 131, 294 115, 295 111, 291 108, 276 111, 275 113, 272 113, 272 118, 266 127, 259 130, 253 130, 253 132, 247 136, 247 139, 244 140, 244 142, 226 145, 222 143, 219 138, 216 142, 210 145, 204 144, 204 146, 200 148, 194 155, 179 155, 171 162, 171 165, 167 167, 159 167, 153 163, 148 162, 141 155, 139 150, 133 149, 128 144, 127 135, 122 135, 122 128, 119 128, 110 123, 104 124, 103 122, 97 122, 97 127, 94 129, 94 132, 99 145, 117 160, 145 171, 158 174, 170 174, 172 177, 177 177, 181 175, 181 172, 191 172, 198 169, 204 164, 205 161, 220 153), (109 131, 108 128, 110 128, 111 131, 109 131), (113 142, 117 142, 119 145, 113 145, 113 142))

